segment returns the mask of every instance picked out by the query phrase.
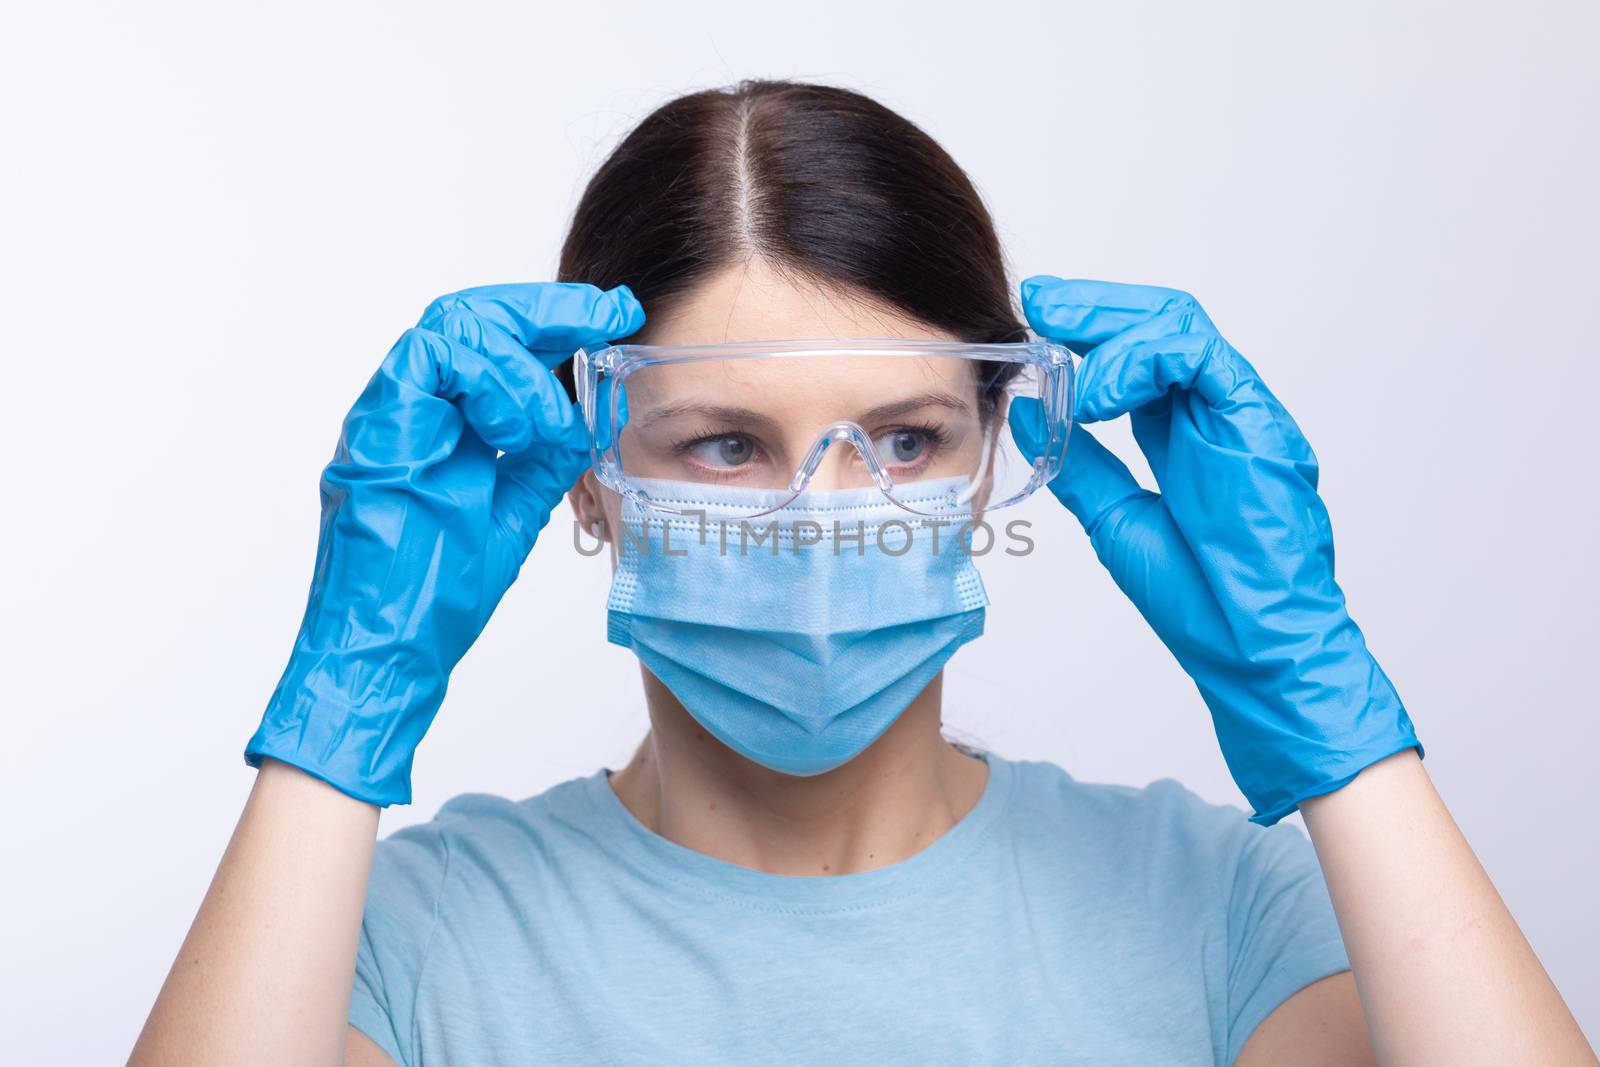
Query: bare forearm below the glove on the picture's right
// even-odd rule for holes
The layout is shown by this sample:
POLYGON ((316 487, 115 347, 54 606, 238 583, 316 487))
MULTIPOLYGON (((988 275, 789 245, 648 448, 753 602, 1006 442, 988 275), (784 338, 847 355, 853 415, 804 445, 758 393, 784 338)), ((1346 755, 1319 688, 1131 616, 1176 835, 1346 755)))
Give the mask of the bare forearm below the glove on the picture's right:
POLYGON ((1301 811, 1379 1062, 1595 1062, 1416 752, 1301 811))

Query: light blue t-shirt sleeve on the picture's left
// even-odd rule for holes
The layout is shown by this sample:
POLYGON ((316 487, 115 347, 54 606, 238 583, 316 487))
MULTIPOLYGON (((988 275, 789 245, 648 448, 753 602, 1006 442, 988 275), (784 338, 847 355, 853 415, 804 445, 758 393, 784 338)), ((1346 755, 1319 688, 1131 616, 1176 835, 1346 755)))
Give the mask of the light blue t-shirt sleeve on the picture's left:
POLYGON ((350 1025, 400 1067, 416 1062, 418 984, 450 870, 438 824, 406 827, 378 843, 355 950, 350 1025))

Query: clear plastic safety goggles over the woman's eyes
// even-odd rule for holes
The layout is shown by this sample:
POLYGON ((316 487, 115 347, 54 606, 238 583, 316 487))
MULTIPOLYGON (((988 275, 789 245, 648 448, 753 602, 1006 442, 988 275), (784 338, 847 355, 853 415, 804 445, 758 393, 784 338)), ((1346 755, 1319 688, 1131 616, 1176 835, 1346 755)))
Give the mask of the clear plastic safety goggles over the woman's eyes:
POLYGON ((864 486, 920 515, 987 512, 1054 478, 1072 430, 1072 354, 1046 342, 618 344, 581 349, 574 376, 600 482, 678 515, 653 486, 763 490, 750 517, 864 486), (1043 410, 1032 462, 1006 426, 1019 397, 1043 410))

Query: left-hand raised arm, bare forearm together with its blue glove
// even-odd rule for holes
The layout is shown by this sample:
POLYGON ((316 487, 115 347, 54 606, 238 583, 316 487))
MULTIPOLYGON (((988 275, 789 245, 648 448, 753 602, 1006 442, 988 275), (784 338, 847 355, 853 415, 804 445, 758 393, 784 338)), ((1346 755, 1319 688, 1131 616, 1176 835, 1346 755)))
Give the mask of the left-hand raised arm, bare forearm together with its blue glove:
POLYGON ((643 323, 627 286, 496 285, 389 349, 322 472, 306 616, 245 747, 256 787, 133 1064, 339 1064, 347 1038, 373 1062, 346 1016, 378 805, 411 801, 451 669, 589 467, 549 368, 643 323))

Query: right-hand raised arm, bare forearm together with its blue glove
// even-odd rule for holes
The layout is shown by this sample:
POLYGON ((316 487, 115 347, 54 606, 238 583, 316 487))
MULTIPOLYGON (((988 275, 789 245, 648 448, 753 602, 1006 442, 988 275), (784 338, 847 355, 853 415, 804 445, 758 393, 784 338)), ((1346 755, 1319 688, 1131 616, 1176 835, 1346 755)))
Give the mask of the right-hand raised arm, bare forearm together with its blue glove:
MULTIPOLYGON (((1080 422, 1133 419, 1162 493, 1080 438, 1082 424, 1050 488, 1195 680, 1256 817, 1304 813, 1371 1051, 1398 1064, 1594 1064, 1346 609, 1317 456, 1282 402, 1187 293, 1037 275, 1022 310, 1040 336, 1086 352, 1080 422)), ((1042 413, 1011 406, 1035 459, 1042 413)), ((1304 992, 1283 1008, 1304 1006, 1304 992)))

